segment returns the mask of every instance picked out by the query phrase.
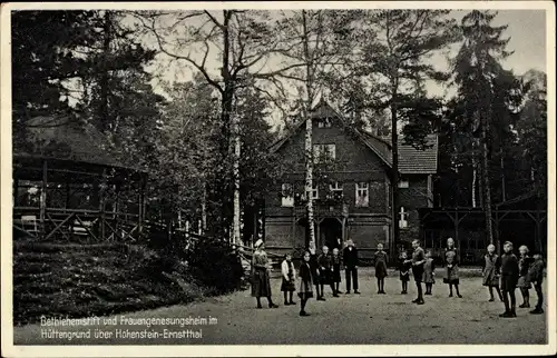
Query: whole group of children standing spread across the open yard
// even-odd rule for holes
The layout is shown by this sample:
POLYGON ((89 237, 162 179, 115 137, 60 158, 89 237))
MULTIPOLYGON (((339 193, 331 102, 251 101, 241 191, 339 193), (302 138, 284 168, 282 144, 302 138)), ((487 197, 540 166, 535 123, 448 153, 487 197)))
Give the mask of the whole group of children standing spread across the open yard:
MULTIPOLYGON (((258 262, 261 263, 261 252, 263 242, 258 242, 256 253, 258 262)), ((418 289, 418 298, 412 302, 418 305, 423 305, 423 295, 432 295, 432 287, 436 284, 436 265, 432 259, 430 250, 424 251, 418 240, 412 242, 413 252, 411 258, 408 258, 408 253, 403 251, 399 257, 399 271, 400 281, 402 282, 402 295, 408 294, 408 282, 410 281, 410 271, 412 271, 413 279, 418 289), (426 285, 426 292, 422 292, 421 284, 426 285)), ((541 255, 534 255, 530 257, 528 255, 528 248, 521 246, 519 248, 519 258, 512 253, 512 243, 507 241, 504 245, 504 253, 499 257, 495 252, 496 248, 494 245, 489 245, 487 248, 487 253, 485 256, 485 262, 482 268, 482 285, 488 288, 489 301, 495 301, 494 289, 497 291, 499 299, 505 304, 505 312, 499 315, 500 317, 510 318, 516 317, 516 296, 515 290, 518 287, 522 295, 524 302, 519 308, 529 308, 529 289, 534 284, 534 288, 538 296, 538 301, 536 308, 530 311, 530 314, 543 314, 543 302, 544 296, 541 291, 541 284, 544 280, 544 268, 545 263, 541 255)), ((264 251, 263 251, 264 252, 264 251)), ((344 257, 346 253, 344 252, 344 257)), ((453 297, 453 288, 456 296, 462 298, 459 291, 459 261, 458 252, 455 247, 455 240, 449 238, 447 240, 447 249, 443 253, 443 262, 446 267, 446 274, 443 282, 449 285, 449 297, 453 297)), ((265 256, 266 260, 266 256, 265 256)), ((255 262, 255 255, 254 255, 255 262)), ((384 290, 384 278, 388 275, 387 271, 388 256, 383 250, 383 246, 378 245, 378 250, 374 253, 374 267, 375 267, 375 278, 378 282, 378 294, 385 295, 384 290)), ((324 301, 324 286, 329 285, 332 290, 333 297, 339 297, 340 294, 340 282, 341 282, 341 267, 345 266, 343 259, 340 256, 339 249, 334 248, 332 253, 329 251, 328 247, 323 247, 321 255, 315 256, 310 251, 304 251, 302 256, 302 263, 300 266, 300 282, 296 288, 296 272, 294 263, 292 262, 292 256, 289 253, 285 256, 282 262, 282 286, 281 291, 284 295, 284 305, 291 306, 296 305, 293 300, 294 291, 297 290, 297 296, 301 299, 301 310, 300 316, 309 316, 305 311, 306 302, 310 298, 315 297, 317 300, 324 301), (314 289, 315 288, 315 296, 314 289)), ((261 266, 261 265, 260 265, 261 266)), ((356 267, 355 267, 356 268, 356 267)), ((257 268, 255 268, 257 270, 257 268)), ((346 269, 346 280, 350 278, 350 272, 346 269)), ((266 282, 261 282, 261 276, 256 276, 256 280, 260 280, 260 287, 264 287, 265 290, 260 292, 261 296, 266 296, 268 298, 270 307, 276 307, 272 302, 271 291, 268 285, 268 271, 264 278, 266 282), (268 288, 268 291, 266 290, 268 288), (262 295, 265 294, 265 295, 262 295), (268 295, 267 295, 268 294, 268 295)), ((358 291, 358 281, 354 281, 355 294, 358 291)), ((350 292, 349 282, 346 282, 346 294, 350 292)), ((255 295, 256 296, 256 295, 255 295)), ((260 298, 257 297, 257 307, 261 308, 260 298)))

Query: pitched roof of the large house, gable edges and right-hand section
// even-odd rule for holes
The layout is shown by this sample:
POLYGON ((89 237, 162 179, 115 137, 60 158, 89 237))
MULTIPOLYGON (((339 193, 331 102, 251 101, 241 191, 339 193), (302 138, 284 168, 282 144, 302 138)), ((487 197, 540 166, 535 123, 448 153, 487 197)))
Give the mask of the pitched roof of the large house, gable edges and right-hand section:
MULTIPOLYGON (((391 145, 384 139, 374 136, 368 131, 358 130, 343 120, 343 117, 335 111, 329 103, 323 99, 313 108, 312 118, 323 118, 323 117, 335 117, 343 128, 353 132, 356 138, 359 138, 368 148, 370 148, 379 158, 388 166, 392 167, 392 149, 391 145)), ((286 133, 282 139, 272 143, 271 151, 278 150, 290 138, 296 133, 305 120, 300 120, 292 130, 286 133)), ((399 172, 402 175, 412 173, 434 173, 437 172, 438 166, 438 137, 436 135, 429 135, 426 137, 426 148, 418 149, 409 143, 404 143, 402 140, 399 141, 399 172)))

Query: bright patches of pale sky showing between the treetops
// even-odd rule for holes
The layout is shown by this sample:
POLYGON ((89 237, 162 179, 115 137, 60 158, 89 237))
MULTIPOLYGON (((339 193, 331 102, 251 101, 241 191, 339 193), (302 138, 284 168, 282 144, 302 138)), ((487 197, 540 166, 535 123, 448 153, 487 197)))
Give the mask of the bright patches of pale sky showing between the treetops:
MULTIPOLYGON (((460 22, 462 17, 469 10, 453 10, 450 16, 460 22)), ((271 11, 270 13, 273 13, 271 11)), ((276 13, 276 12, 275 12, 276 13)), ((217 16, 217 13, 215 13, 217 16)), ((274 18, 274 16, 272 16, 274 18)), ((188 20, 189 23, 196 24, 192 21, 199 20, 188 20)), ((515 51, 512 56, 505 60, 502 63, 505 68, 512 70, 516 74, 524 74, 530 69, 537 69, 547 72, 546 68, 546 11, 544 10, 499 10, 498 16, 494 20, 495 26, 505 26, 508 28, 504 36, 510 38, 507 49, 515 51)), ((178 32, 180 30, 177 30, 178 32)), ((179 37, 179 36, 178 36, 179 37)), ((148 44, 157 47, 157 42, 153 37, 145 37, 145 41, 148 44)), ((458 50, 458 44, 448 49, 449 53, 453 56, 458 50)), ((172 47, 168 47, 172 49, 172 47)), ((199 48, 201 50, 201 48, 199 48)), ((180 50, 184 51, 184 50, 180 50)), ((180 52, 177 52, 180 53, 180 52)), ((195 50, 194 50, 195 53, 195 50)), ((202 56, 203 52, 196 54, 202 56)), ((219 59, 217 58, 218 50, 212 48, 209 56, 207 58, 206 67, 212 69, 216 74, 217 68, 219 66, 219 59)), ((447 53, 438 54, 431 58, 432 63, 439 69, 447 70, 449 67, 447 61, 447 53)), ((201 57, 198 57, 201 60, 201 57)), ((272 70, 278 63, 273 63, 273 60, 268 61, 264 69, 272 70)), ((192 78, 195 70, 192 70, 184 62, 168 62, 168 57, 166 54, 157 56, 156 60, 149 67, 149 70, 157 74, 158 78, 163 78, 166 81, 187 81, 192 78)), ((155 90, 159 93, 164 93, 159 80, 155 79, 153 81, 155 90)), ((427 90, 432 96, 451 96, 453 89, 447 88, 446 86, 428 82, 427 90)), ((273 116, 271 119, 272 125, 278 125, 277 116, 273 116)))

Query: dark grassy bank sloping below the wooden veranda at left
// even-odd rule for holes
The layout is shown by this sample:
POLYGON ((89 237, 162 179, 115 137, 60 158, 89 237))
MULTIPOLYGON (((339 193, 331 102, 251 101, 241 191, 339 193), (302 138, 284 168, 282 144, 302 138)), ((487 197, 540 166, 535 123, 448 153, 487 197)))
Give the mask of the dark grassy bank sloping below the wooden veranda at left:
POLYGON ((190 302, 212 295, 187 275, 160 275, 140 246, 14 242, 13 320, 86 317, 190 302))

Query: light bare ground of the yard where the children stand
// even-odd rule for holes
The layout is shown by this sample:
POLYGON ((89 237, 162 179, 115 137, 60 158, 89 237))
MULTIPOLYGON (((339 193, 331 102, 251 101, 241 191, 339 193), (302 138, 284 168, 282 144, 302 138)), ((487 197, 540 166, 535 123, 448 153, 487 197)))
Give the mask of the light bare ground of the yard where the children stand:
MULTIPOLYGON (((463 298, 448 297, 448 287, 440 282, 433 287, 433 296, 426 296, 426 305, 411 304, 416 287, 410 282, 409 294, 400 294, 400 281, 395 272, 385 280, 388 295, 377 295, 375 279, 369 270, 361 270, 361 295, 331 296, 325 288, 326 301, 310 300, 306 307, 310 317, 300 317, 300 302, 295 307, 284 306, 280 280, 273 279, 273 298, 276 309, 256 309, 250 291, 206 299, 187 306, 173 306, 149 311, 125 314, 126 317, 213 317, 214 325, 204 326, 89 326, 72 328, 74 331, 100 329, 113 332, 111 338, 49 339, 41 338, 40 325, 14 328, 14 345, 389 345, 389 344, 547 344, 546 315, 530 315, 529 309, 517 308, 518 318, 499 318, 504 306, 500 301, 488 302, 488 294, 481 278, 461 278, 463 298), (198 338, 155 338, 138 340, 115 339, 117 329, 130 331, 164 329, 199 331, 198 338)), ((341 284, 341 290, 344 282, 341 284)), ((544 287, 546 290, 546 287, 544 287)), ((534 292, 531 292, 534 294, 534 292)), ((517 296, 519 292, 517 291, 517 296)), ((534 294, 535 296, 535 294, 534 294)), ((518 304, 521 299, 518 298, 518 304)), ((536 297, 531 298, 536 302, 536 297)), ((265 300, 263 300, 265 302, 265 300)), ((120 315, 117 316, 117 320, 120 315)), ((59 327, 59 330, 71 328, 59 327)), ((190 332, 192 334, 192 332, 190 332)), ((190 335, 189 334, 189 335, 190 335)), ((187 334, 186 334, 187 335, 187 334)))

